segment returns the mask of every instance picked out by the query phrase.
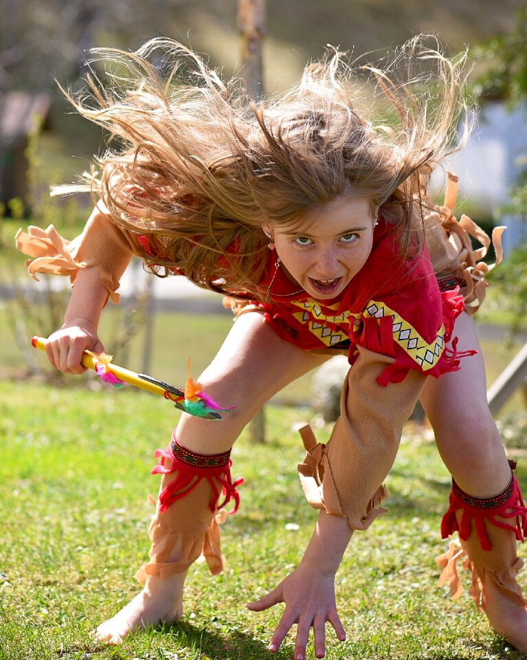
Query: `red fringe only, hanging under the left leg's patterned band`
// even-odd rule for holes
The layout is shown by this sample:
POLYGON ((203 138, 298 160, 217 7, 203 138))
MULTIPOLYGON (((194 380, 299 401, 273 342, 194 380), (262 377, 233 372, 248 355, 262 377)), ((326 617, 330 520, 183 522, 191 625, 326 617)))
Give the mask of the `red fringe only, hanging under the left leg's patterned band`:
POLYGON ((178 472, 177 478, 172 483, 168 484, 159 494, 159 511, 164 513, 171 504, 176 500, 180 500, 188 493, 190 493, 203 479, 207 479, 212 488, 212 498, 209 502, 209 508, 214 513, 216 509, 222 509, 231 500, 234 500, 234 508, 229 511, 230 514, 235 514, 240 506, 240 495, 236 490, 240 484, 243 483, 243 478, 238 478, 232 481, 230 467, 232 460, 229 459, 228 463, 220 467, 196 467, 188 465, 177 459, 170 445, 166 450, 158 449, 154 454, 155 458, 159 458, 159 463, 153 467, 150 474, 172 474, 178 472), (170 461, 170 467, 167 467, 166 461, 170 461), (218 500, 223 496, 223 502, 218 505, 218 500))

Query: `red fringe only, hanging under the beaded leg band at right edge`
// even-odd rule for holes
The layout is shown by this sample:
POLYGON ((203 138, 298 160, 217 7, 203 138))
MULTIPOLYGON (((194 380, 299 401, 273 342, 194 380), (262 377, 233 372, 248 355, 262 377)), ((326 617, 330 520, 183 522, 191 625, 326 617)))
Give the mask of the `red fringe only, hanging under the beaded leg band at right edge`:
POLYGON ((519 489, 517 478, 513 476, 513 492, 503 505, 491 509, 473 507, 463 502, 456 496, 453 489, 450 492, 449 508, 441 520, 441 536, 447 538, 455 531, 459 533, 461 540, 466 541, 471 533, 472 520, 474 520, 475 531, 478 534, 482 550, 491 550, 491 542, 486 533, 484 520, 495 527, 513 531, 518 541, 524 542, 527 536, 527 507, 524 505, 522 492, 519 489), (457 511, 462 511, 461 523, 458 523, 457 511), (516 518, 515 525, 497 520, 500 518, 516 518))

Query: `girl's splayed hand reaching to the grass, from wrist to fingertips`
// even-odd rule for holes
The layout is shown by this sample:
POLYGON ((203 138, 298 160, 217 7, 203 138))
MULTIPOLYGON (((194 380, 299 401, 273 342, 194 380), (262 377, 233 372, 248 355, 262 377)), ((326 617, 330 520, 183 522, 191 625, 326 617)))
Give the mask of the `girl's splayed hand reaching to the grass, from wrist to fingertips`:
POLYGON ((316 567, 300 564, 270 593, 247 607, 261 612, 278 603, 285 603, 285 610, 269 642, 269 651, 280 648, 293 624, 298 624, 295 643, 295 660, 304 660, 309 631, 315 635, 315 656, 323 658, 326 653, 326 621, 335 628, 340 641, 346 632, 337 614, 335 604, 335 576, 320 574, 316 567))

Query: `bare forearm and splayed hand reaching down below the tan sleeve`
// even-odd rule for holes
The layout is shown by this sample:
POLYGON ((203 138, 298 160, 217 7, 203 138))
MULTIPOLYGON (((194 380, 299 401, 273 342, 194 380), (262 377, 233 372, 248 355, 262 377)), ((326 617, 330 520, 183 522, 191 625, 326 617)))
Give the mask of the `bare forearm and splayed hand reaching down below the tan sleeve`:
POLYGON ((276 589, 248 604, 249 610, 260 612, 277 603, 285 603, 286 608, 269 643, 271 652, 280 648, 293 624, 298 624, 295 660, 304 660, 311 628, 315 635, 315 655, 324 657, 326 621, 335 628, 341 641, 346 639, 335 604, 335 573, 351 535, 346 518, 320 511, 313 536, 298 567, 276 589))

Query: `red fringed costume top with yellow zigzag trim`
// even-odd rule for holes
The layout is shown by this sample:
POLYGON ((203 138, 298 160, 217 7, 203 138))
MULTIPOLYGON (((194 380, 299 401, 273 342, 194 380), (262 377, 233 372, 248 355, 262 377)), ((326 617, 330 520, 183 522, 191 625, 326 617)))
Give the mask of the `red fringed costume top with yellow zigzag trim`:
POLYGON ((401 256, 394 233, 383 222, 375 229, 372 252, 344 292, 334 300, 313 300, 298 292, 282 267, 276 273, 269 260, 262 287, 269 300, 255 303, 282 339, 306 350, 348 349, 349 362, 357 346, 394 358, 377 382, 400 382, 410 369, 438 377, 456 369, 445 351, 462 298, 440 293, 425 250, 413 261, 401 256))

